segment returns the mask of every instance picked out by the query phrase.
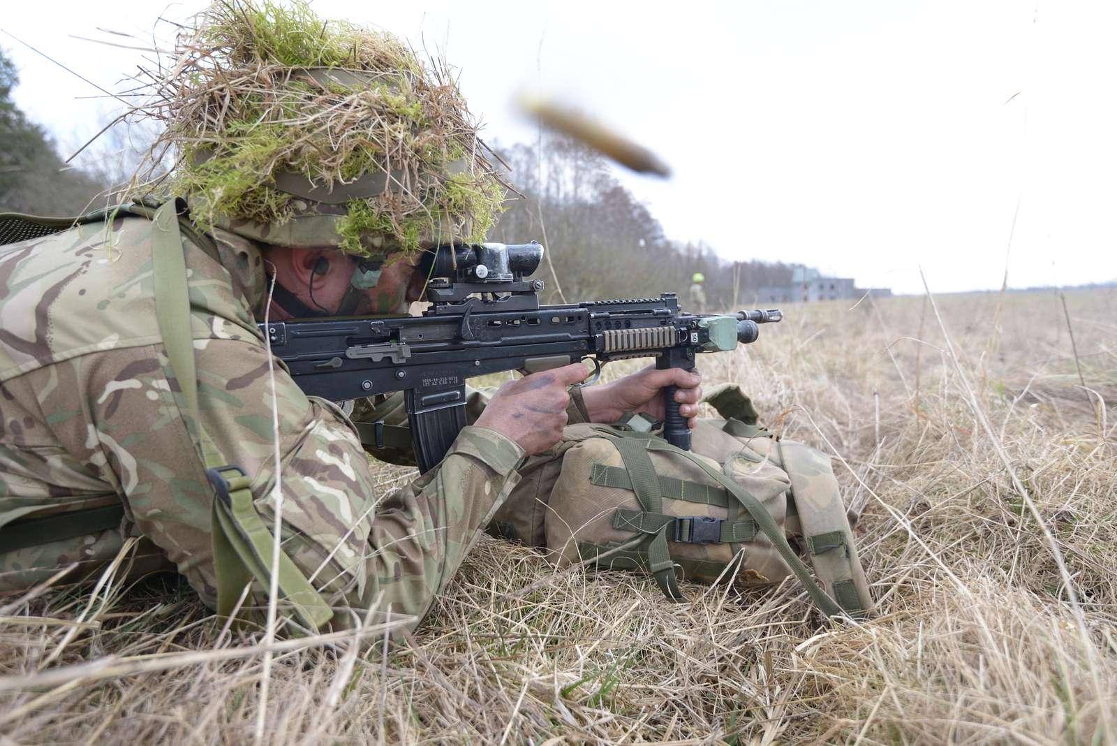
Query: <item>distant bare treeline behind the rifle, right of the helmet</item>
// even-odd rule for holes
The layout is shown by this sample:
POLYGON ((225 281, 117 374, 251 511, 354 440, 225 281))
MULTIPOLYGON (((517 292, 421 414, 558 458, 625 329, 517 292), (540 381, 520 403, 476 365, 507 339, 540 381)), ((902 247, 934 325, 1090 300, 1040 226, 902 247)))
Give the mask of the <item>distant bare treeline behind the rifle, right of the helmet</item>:
MULTIPOLYGON (((495 149, 524 199, 510 203, 489 238, 545 240, 567 300, 666 290, 686 297, 691 275, 701 272, 708 305, 722 309, 752 304, 761 286, 791 283, 790 265, 725 261, 704 243, 668 239, 604 160, 575 141, 545 137, 536 145, 495 149)), ((536 277, 547 281, 547 300, 557 302, 545 265, 536 277)))

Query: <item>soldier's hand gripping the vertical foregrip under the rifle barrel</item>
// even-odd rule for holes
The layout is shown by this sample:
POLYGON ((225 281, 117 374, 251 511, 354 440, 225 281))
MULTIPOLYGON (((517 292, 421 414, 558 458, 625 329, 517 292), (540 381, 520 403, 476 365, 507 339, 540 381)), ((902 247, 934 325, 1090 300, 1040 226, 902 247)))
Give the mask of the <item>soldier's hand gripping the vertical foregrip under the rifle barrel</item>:
POLYGON ((687 418, 687 427, 694 428, 698 424, 698 402, 701 401, 701 374, 697 369, 646 367, 603 386, 588 386, 582 390, 582 399, 592 422, 615 422, 627 412, 647 412, 662 420, 661 390, 669 385, 678 386, 675 401, 679 402, 679 414, 687 418))

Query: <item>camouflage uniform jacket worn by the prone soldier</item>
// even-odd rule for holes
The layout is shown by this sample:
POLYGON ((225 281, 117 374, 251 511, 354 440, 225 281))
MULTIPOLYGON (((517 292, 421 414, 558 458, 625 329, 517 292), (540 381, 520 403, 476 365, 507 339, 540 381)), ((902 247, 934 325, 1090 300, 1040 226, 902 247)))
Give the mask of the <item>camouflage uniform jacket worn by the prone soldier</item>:
MULTIPOLYGON (((165 561, 213 605, 211 503, 189 408, 155 316, 146 219, 90 223, 0 248, 0 528, 23 517, 123 500, 118 529, 4 552, 0 591, 70 563, 87 575, 143 536, 133 571, 165 561)), ((266 278, 257 245, 217 229, 183 236, 200 423, 250 478, 271 525, 284 495, 285 553, 336 609, 421 618, 518 481, 523 450, 467 427, 442 463, 378 504, 353 425, 275 369, 257 332, 266 278), (204 243, 201 245, 201 243, 204 243)), ((266 595, 256 584, 252 603, 266 595)), ((335 613, 334 627, 352 614, 335 613)))

